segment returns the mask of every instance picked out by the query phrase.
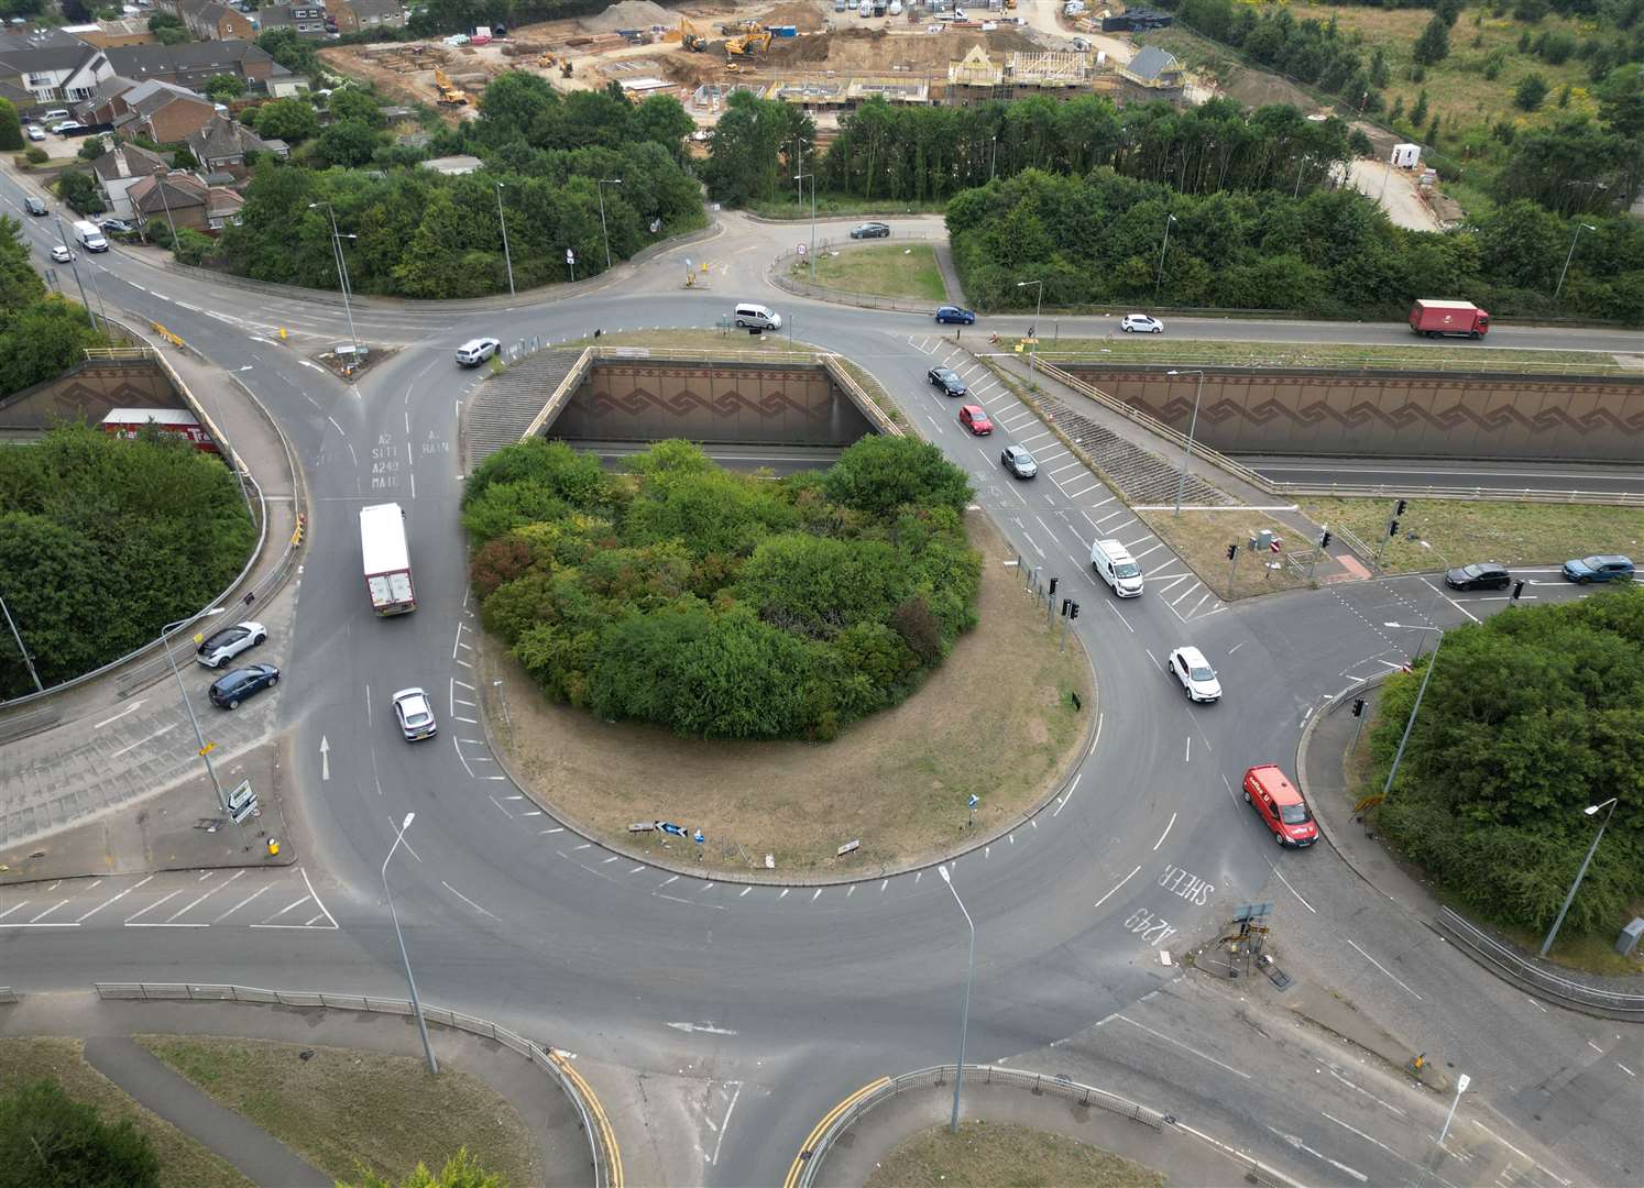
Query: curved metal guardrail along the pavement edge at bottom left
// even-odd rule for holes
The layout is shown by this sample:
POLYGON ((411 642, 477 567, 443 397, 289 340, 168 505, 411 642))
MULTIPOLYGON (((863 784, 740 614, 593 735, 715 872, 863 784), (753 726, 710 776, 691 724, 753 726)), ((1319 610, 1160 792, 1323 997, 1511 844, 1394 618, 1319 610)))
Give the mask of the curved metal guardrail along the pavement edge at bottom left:
MULTIPOLYGON (((332 1011, 368 1011, 375 1014, 409 1015, 406 999, 378 999, 367 994, 326 994, 322 991, 271 991, 255 986, 212 983, 92 983, 100 999, 140 1002, 248 1002, 253 1006, 327 1007, 332 1011)), ((480 1035, 515 1050, 546 1071, 577 1111, 579 1126, 589 1139, 589 1155, 593 1162, 595 1188, 623 1188, 621 1150, 610 1119, 593 1089, 559 1052, 533 1043, 518 1032, 493 1022, 465 1015, 449 1007, 423 1004, 423 1017, 459 1032, 480 1035)))

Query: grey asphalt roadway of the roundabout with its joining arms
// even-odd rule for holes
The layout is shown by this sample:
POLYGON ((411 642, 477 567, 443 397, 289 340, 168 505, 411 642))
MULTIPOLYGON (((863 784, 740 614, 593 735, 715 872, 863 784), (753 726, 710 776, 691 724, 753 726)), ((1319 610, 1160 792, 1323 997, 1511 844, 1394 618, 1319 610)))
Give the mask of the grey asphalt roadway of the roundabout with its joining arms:
MULTIPOLYGON (((13 182, 3 191, 18 200, 13 182)), ((302 465, 307 531, 301 577, 279 595, 291 628, 268 734, 286 754, 298 869, 332 927, 253 930, 224 914, 209 927, 176 920, 145 933, 135 925, 194 896, 179 891, 166 910, 133 922, 150 887, 100 909, 105 889, 74 881, 49 892, 87 897, 72 917, 64 910, 74 927, 41 927, 53 923, 44 917, 0 935, 0 983, 25 1001, 94 981, 399 996, 378 871, 414 813, 408 853, 386 877, 423 999, 575 1053, 631 1183, 779 1183, 843 1094, 950 1060, 967 986, 954 892, 975 919, 972 1061, 1065 1073, 1305 1183, 1402 1183, 1424 1168, 1445 1183, 1636 1180, 1636 1025, 1549 1012, 1488 978, 1414 914, 1383 902, 1330 848, 1276 848, 1238 795, 1253 764, 1295 774, 1317 707, 1409 661, 1420 633, 1386 623, 1445 626, 1499 603, 1438 600, 1419 577, 1238 603, 1200 596, 1208 592, 1194 588, 1192 570, 1088 470, 1057 477, 1054 467, 1070 462, 1052 458, 1057 481, 1006 481, 1000 435, 963 434, 926 381, 950 355, 963 365, 927 317, 768 289, 763 263, 783 237, 778 228, 761 238, 751 222, 722 215, 717 237, 618 268, 575 301, 357 302, 362 340, 396 350, 352 384, 278 345, 281 330, 307 345, 335 337, 326 294, 184 279, 110 253, 99 265, 104 301, 135 322, 163 322, 235 373, 302 465), (679 288, 686 250, 722 261, 710 291, 679 288), (830 886, 681 874, 580 838, 536 808, 482 730, 459 426, 485 380, 457 370, 452 350, 480 335, 549 343, 593 330, 712 327, 743 297, 783 309, 784 334, 792 327, 871 373, 914 431, 967 473, 970 514, 1083 605, 1070 629, 1101 687, 1100 733, 1077 756, 1065 794, 947 863, 945 877, 929 866, 830 886), (419 610, 396 619, 372 616, 358 588, 357 511, 383 501, 408 508, 418 573, 419 610), (1149 583, 1180 585, 1120 603, 1090 569, 1098 532, 1144 557, 1149 583), (1166 675, 1166 657, 1184 644, 1215 664, 1220 703, 1190 705, 1166 675), (442 739, 396 738, 388 697, 408 687, 436 693, 450 723, 442 739), (1245 902, 1274 904, 1295 999, 1266 979, 1230 989, 1184 971, 1182 955, 1221 935, 1245 902), (1300 997, 1346 1001, 1388 1038, 1310 1019, 1287 1004, 1300 997), (1381 1052, 1394 1045, 1407 1050, 1381 1052), (1419 1052, 1473 1075, 1448 1149, 1434 1135, 1450 1103, 1399 1070, 1419 1052)), ((985 319, 972 334, 980 345, 990 329, 1024 325, 985 319)), ((1218 319, 1195 334, 1391 342, 1401 329, 1218 319)), ((1524 345, 1616 343, 1598 330, 1494 334, 1524 345)), ((975 380, 986 384, 980 368, 975 380)), ((980 386, 975 398, 1006 431, 1039 432, 1003 386, 980 386)), ((1537 593, 1570 596, 1552 583, 1537 593)), ((156 700, 117 730, 141 736, 164 715, 176 711, 156 700)), ((89 715, 87 728, 105 716, 89 715)), ((169 894, 166 877, 155 891, 169 894)), ((275 874, 247 874, 261 877, 275 874)), ((224 891, 201 909, 207 919, 242 897, 238 886, 253 891, 224 891)), ((0 912, 48 894, 5 892, 0 912)))

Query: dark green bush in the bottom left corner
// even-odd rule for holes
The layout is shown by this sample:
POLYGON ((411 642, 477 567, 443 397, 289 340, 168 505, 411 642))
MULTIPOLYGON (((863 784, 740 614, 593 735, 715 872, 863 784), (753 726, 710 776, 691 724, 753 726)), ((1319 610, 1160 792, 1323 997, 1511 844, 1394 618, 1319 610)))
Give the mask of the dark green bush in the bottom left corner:
POLYGON ((33 1188, 159 1183, 159 1157, 132 1119, 105 1122, 94 1106, 72 1101, 49 1080, 0 1098, 0 1180, 33 1188))

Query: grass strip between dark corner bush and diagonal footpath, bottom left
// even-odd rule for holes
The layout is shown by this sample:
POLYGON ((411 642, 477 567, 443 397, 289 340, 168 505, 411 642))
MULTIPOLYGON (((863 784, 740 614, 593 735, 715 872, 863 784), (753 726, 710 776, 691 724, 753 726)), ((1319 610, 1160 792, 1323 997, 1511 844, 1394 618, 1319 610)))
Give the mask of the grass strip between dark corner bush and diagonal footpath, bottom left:
POLYGON ((49 1078, 74 1101, 95 1106, 105 1122, 130 1117, 153 1140, 159 1157, 159 1181, 166 1188, 252 1188, 252 1181, 232 1163, 140 1106, 125 1089, 87 1065, 84 1050, 84 1042, 76 1038, 0 1038, 0 1086, 13 1089, 26 1081, 49 1078))

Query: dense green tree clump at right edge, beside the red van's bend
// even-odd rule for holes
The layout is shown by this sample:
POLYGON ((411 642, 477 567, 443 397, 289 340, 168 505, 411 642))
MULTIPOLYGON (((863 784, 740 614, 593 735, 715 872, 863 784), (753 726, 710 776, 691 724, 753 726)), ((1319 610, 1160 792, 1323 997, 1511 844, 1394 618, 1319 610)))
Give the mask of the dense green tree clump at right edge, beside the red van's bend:
MULTIPOLYGON (((1386 835, 1491 919, 1550 927, 1586 851, 1586 805, 1616 797, 1565 932, 1598 932, 1644 896, 1644 590, 1512 610, 1443 638, 1422 711, 1378 808, 1386 835)), ((1386 777, 1425 665, 1381 693, 1386 777)))

